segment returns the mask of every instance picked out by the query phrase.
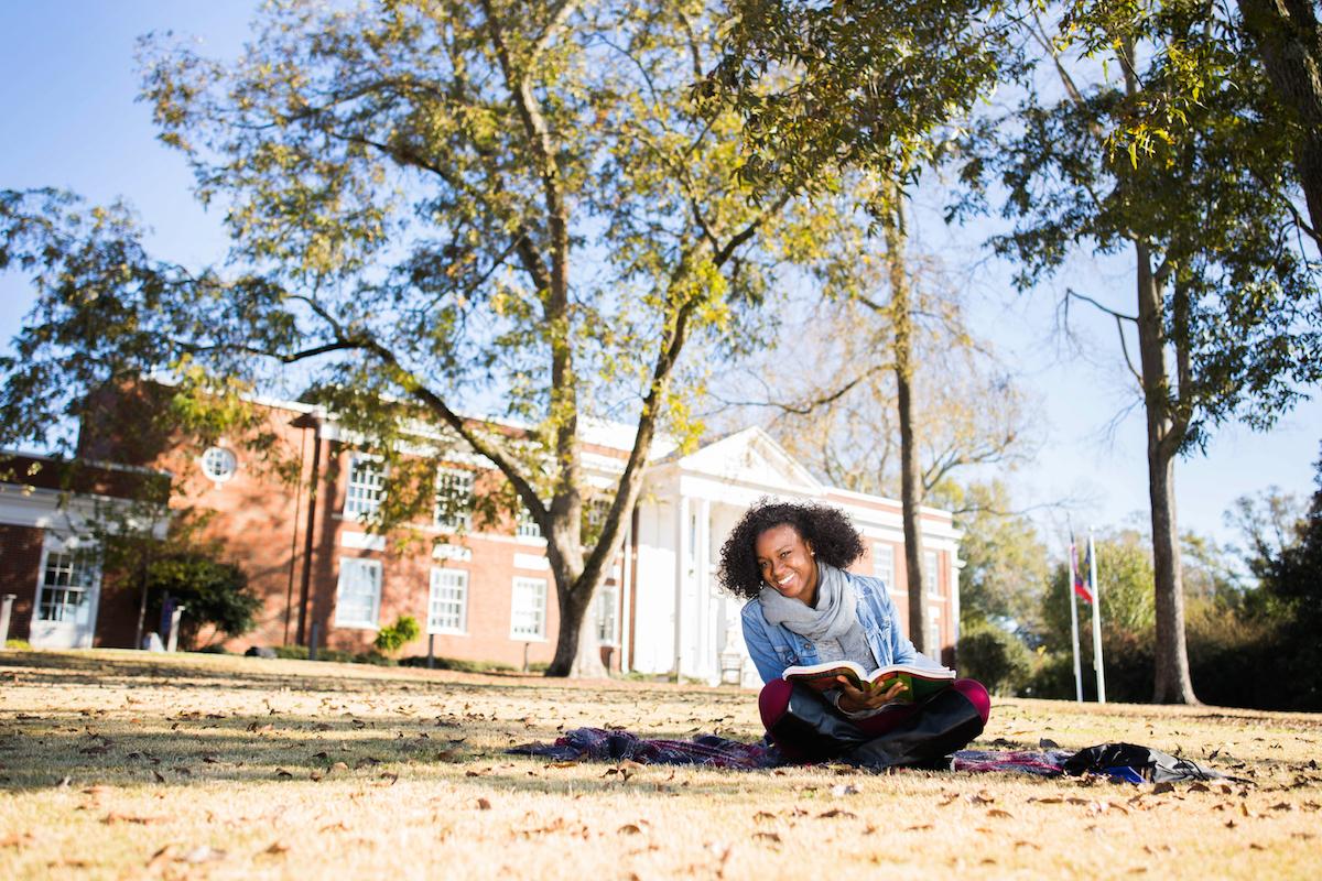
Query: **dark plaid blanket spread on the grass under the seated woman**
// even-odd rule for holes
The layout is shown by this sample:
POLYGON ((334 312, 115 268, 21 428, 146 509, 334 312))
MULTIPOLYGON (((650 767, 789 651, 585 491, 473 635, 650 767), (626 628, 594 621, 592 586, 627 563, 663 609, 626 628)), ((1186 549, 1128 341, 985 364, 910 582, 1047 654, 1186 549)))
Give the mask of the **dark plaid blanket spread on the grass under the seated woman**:
MULTIPOLYGON (((693 740, 649 740, 625 730, 575 728, 554 744, 524 744, 506 750, 521 756, 541 756, 554 761, 633 761, 641 765, 705 765, 735 770, 756 770, 788 765, 773 745, 744 744, 715 734, 693 740)), ((1054 777, 1069 753, 961 749, 954 754, 957 771, 1017 771, 1054 777)))

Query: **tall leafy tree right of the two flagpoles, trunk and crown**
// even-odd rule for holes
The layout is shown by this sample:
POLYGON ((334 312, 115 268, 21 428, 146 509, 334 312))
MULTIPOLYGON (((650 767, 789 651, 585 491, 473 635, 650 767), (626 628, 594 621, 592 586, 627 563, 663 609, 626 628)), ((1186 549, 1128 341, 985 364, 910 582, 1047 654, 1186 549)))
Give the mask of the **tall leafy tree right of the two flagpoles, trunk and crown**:
MULTIPOLYGON (((1080 248, 1132 255, 1134 305, 1104 308, 1146 420, 1154 700, 1192 703, 1175 460, 1227 420, 1270 425, 1318 379, 1318 279, 1277 198, 1290 186, 1293 147, 1270 124, 1278 104, 1236 32, 1207 26, 1204 4, 1185 0, 1073 13, 1063 36, 1031 20, 1058 86, 1039 83, 1011 118, 989 122, 982 145, 970 141, 966 180, 974 198, 988 176, 1002 188, 1014 226, 994 244, 1019 262, 1025 288, 1080 248), (1067 54, 1069 45, 1085 57, 1067 54), (1190 66, 1206 90, 1183 107, 1182 125, 1162 129, 1145 153, 1133 140, 1116 149, 1190 66)), ((1067 293, 1097 305, 1113 302, 1108 295, 1087 281, 1067 293)))

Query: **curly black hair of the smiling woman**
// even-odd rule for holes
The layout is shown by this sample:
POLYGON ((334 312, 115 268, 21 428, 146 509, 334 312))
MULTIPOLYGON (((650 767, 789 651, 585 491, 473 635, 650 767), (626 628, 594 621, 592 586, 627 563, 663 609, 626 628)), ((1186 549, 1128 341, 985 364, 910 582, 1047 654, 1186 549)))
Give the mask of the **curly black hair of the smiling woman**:
POLYGON ((761 590, 761 572, 754 549, 758 536, 777 526, 795 527, 800 538, 813 546, 817 559, 837 569, 849 567, 863 556, 863 539, 839 509, 812 502, 758 499, 720 546, 720 571, 717 577, 730 593, 752 600, 761 590))

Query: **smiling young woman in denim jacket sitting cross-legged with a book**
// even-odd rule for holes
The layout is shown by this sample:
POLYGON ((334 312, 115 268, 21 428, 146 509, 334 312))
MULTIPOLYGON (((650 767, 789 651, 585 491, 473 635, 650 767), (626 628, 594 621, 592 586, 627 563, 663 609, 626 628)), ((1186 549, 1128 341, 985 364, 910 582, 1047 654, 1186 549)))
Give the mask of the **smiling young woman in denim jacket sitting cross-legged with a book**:
POLYGON ((720 548, 720 582, 744 597, 743 633, 765 686, 758 699, 767 733, 789 758, 842 758, 869 767, 940 765, 986 725, 990 701, 957 679, 917 704, 902 686, 873 692, 841 679, 817 692, 781 679, 787 667, 853 660, 937 666, 903 633, 886 584, 846 568, 863 556, 858 531, 824 505, 761 499, 720 548))

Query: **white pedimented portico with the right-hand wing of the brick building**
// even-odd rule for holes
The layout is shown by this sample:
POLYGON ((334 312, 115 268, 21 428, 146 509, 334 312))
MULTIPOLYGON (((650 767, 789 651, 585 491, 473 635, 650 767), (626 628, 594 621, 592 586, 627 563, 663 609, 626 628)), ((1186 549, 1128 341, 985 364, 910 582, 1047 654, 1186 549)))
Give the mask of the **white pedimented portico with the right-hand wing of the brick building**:
MULTIPOLYGON (((678 670, 682 678, 717 683, 720 654, 734 650, 746 659, 742 683, 760 684, 743 645, 743 601, 719 589, 717 568, 730 530, 763 497, 843 509, 869 546, 869 556, 854 568, 882 576, 904 612, 907 602, 896 590, 904 584, 899 503, 829 487, 764 431, 748 428, 689 456, 666 458, 649 472, 633 538, 637 586, 627 668, 678 670)), ((951 646, 958 619, 958 535, 949 514, 931 509, 923 510, 923 531, 929 584, 937 585, 928 619, 937 645, 951 646)))

